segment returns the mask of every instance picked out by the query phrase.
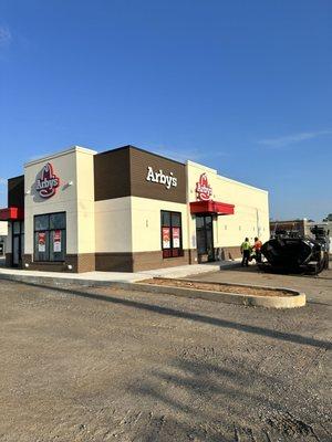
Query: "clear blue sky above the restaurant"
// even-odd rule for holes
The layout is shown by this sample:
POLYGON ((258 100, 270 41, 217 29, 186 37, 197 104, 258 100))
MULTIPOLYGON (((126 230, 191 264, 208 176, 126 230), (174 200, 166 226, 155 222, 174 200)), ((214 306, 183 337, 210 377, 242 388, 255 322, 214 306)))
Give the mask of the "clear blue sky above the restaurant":
POLYGON ((0 206, 24 161, 132 144, 332 212, 331 0, 0 0, 0 206))

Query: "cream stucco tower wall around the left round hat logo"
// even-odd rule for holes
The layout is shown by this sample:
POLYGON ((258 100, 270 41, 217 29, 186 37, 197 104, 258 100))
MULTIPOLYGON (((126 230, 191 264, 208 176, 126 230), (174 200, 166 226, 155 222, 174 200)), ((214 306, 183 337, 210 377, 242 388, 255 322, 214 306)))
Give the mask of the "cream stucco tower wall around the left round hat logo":
POLYGON ((74 146, 24 165, 24 253, 33 254, 33 217, 62 211, 66 213, 66 253, 94 251, 94 154, 74 146), (60 187, 53 197, 42 199, 35 190, 35 180, 46 162, 52 164, 60 187))

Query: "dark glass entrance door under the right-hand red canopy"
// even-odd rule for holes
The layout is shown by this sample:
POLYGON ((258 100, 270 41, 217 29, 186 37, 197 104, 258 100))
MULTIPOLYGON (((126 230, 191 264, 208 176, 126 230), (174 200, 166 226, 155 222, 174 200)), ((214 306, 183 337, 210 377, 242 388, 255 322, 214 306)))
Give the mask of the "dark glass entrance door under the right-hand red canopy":
POLYGON ((215 261, 214 222, 210 214, 196 217, 196 241, 198 260, 206 256, 207 261, 215 261))

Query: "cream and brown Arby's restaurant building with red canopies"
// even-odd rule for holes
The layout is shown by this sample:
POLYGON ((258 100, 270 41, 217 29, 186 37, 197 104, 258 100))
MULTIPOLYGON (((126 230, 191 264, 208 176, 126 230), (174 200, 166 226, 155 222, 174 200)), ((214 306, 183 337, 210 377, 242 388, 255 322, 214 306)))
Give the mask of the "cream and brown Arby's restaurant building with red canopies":
POLYGON ((25 270, 136 272, 236 259, 269 239, 268 192, 187 160, 83 147, 8 180, 6 263, 25 270))

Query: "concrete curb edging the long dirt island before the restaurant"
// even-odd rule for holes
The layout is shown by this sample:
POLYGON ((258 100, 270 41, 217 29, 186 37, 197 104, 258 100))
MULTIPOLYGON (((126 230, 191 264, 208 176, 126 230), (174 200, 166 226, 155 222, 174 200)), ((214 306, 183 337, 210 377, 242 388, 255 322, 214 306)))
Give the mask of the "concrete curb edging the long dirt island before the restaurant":
MULTIPOLYGON (((246 305, 246 306, 255 306, 255 307, 267 307, 267 308, 295 308, 303 307, 305 305, 305 294, 300 293, 290 288, 280 288, 280 287, 267 287, 267 286, 258 286, 258 285, 249 285, 249 284, 230 284, 225 283, 227 285, 241 285, 243 287, 253 287, 253 288, 272 288, 277 291, 287 291, 292 296, 252 296, 252 295, 241 295, 241 294, 230 294, 222 292, 207 292, 197 288, 183 288, 183 287, 172 287, 165 285, 152 285, 152 284, 143 284, 143 283, 128 283, 128 282, 108 282, 108 281, 96 281, 96 280, 75 280, 75 278, 61 278, 61 277, 52 277, 52 276, 27 276, 27 275, 10 275, 10 274, 0 274, 0 280, 8 281, 18 281, 22 283, 31 283, 31 284, 54 284, 54 285, 82 285, 82 286, 108 286, 108 287, 117 287, 122 290, 129 290, 135 292, 146 292, 146 293, 158 293, 166 295, 174 295, 180 297, 189 297, 189 298, 201 298, 206 301, 212 301, 218 303, 227 303, 227 304, 237 304, 237 305, 246 305)), ((165 278, 167 281, 167 278, 165 278)), ((195 282, 193 280, 183 280, 195 282)), ((197 282, 197 281, 196 281, 197 282)), ((205 282, 206 283, 206 282, 205 282)), ((215 284, 215 283, 211 283, 215 284)), ((224 283, 222 283, 224 284, 224 283)))

